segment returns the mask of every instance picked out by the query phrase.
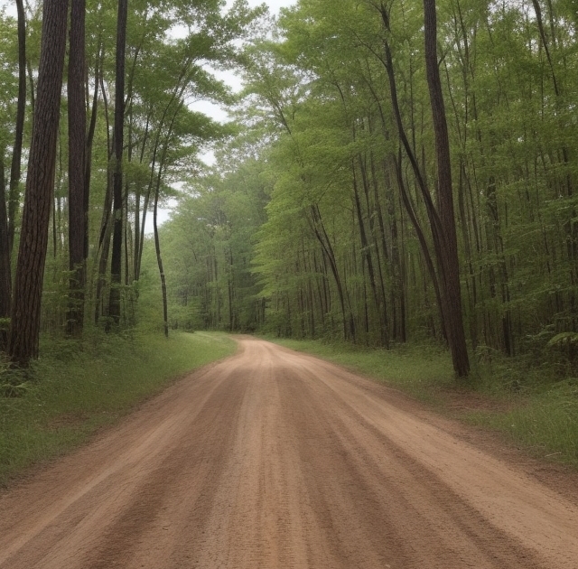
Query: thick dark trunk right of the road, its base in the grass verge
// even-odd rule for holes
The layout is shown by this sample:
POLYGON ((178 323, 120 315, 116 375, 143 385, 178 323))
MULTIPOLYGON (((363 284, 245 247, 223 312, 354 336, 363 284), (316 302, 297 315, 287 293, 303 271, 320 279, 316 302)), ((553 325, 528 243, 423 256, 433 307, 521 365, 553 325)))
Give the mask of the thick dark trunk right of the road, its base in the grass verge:
POLYGON ((443 296, 445 297, 443 302, 447 310, 446 332, 450 340, 453 370, 459 378, 465 378, 470 373, 470 361, 461 314, 460 267, 453 213, 450 141, 437 61, 436 26, 435 0, 424 0, 425 70, 430 91, 437 155, 438 210, 443 232, 440 262, 443 268, 443 296))

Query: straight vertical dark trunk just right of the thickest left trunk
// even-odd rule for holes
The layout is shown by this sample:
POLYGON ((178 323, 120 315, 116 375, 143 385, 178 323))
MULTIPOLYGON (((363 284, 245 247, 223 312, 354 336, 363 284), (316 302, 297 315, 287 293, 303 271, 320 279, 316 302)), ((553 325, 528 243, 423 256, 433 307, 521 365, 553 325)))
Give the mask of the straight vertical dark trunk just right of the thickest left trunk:
POLYGON ((70 7, 70 49, 68 80, 69 112, 69 270, 70 294, 67 331, 82 334, 86 285, 86 122, 84 100, 86 0, 74 0, 70 7))

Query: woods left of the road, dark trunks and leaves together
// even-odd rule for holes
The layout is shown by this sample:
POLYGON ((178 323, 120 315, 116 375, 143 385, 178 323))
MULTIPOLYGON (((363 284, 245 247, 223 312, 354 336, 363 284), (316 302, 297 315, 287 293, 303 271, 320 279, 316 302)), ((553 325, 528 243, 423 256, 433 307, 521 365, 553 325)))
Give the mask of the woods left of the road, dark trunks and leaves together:
POLYGON ((172 184, 228 131, 188 103, 229 100, 211 70, 238 65, 261 10, 219 0, 15 7, 1 14, 0 349, 26 367, 41 331, 81 339, 95 325, 135 325, 147 214, 156 232, 172 184))

